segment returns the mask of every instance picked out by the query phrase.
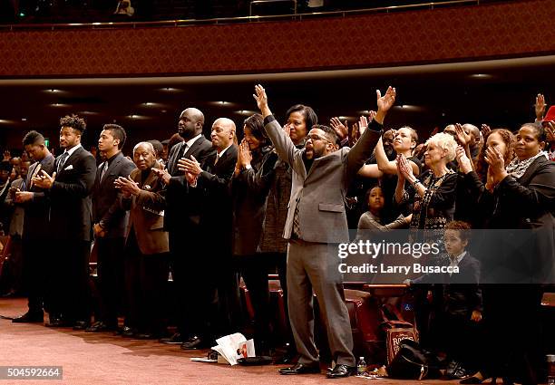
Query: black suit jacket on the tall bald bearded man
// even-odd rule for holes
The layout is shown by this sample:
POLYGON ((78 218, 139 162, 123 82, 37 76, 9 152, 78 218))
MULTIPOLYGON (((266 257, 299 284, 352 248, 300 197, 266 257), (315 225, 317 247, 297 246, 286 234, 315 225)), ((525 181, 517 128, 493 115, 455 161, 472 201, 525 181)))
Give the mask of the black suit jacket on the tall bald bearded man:
POLYGON ((168 172, 171 175, 170 183, 166 186, 166 204, 168 209, 164 217, 164 229, 166 231, 183 231, 188 226, 199 226, 200 202, 202 197, 189 189, 184 174, 178 169, 177 162, 180 158, 190 159, 192 155, 200 164, 216 153, 212 143, 200 136, 195 140, 190 149, 180 156, 185 142, 182 141, 171 148, 168 158, 168 172))

